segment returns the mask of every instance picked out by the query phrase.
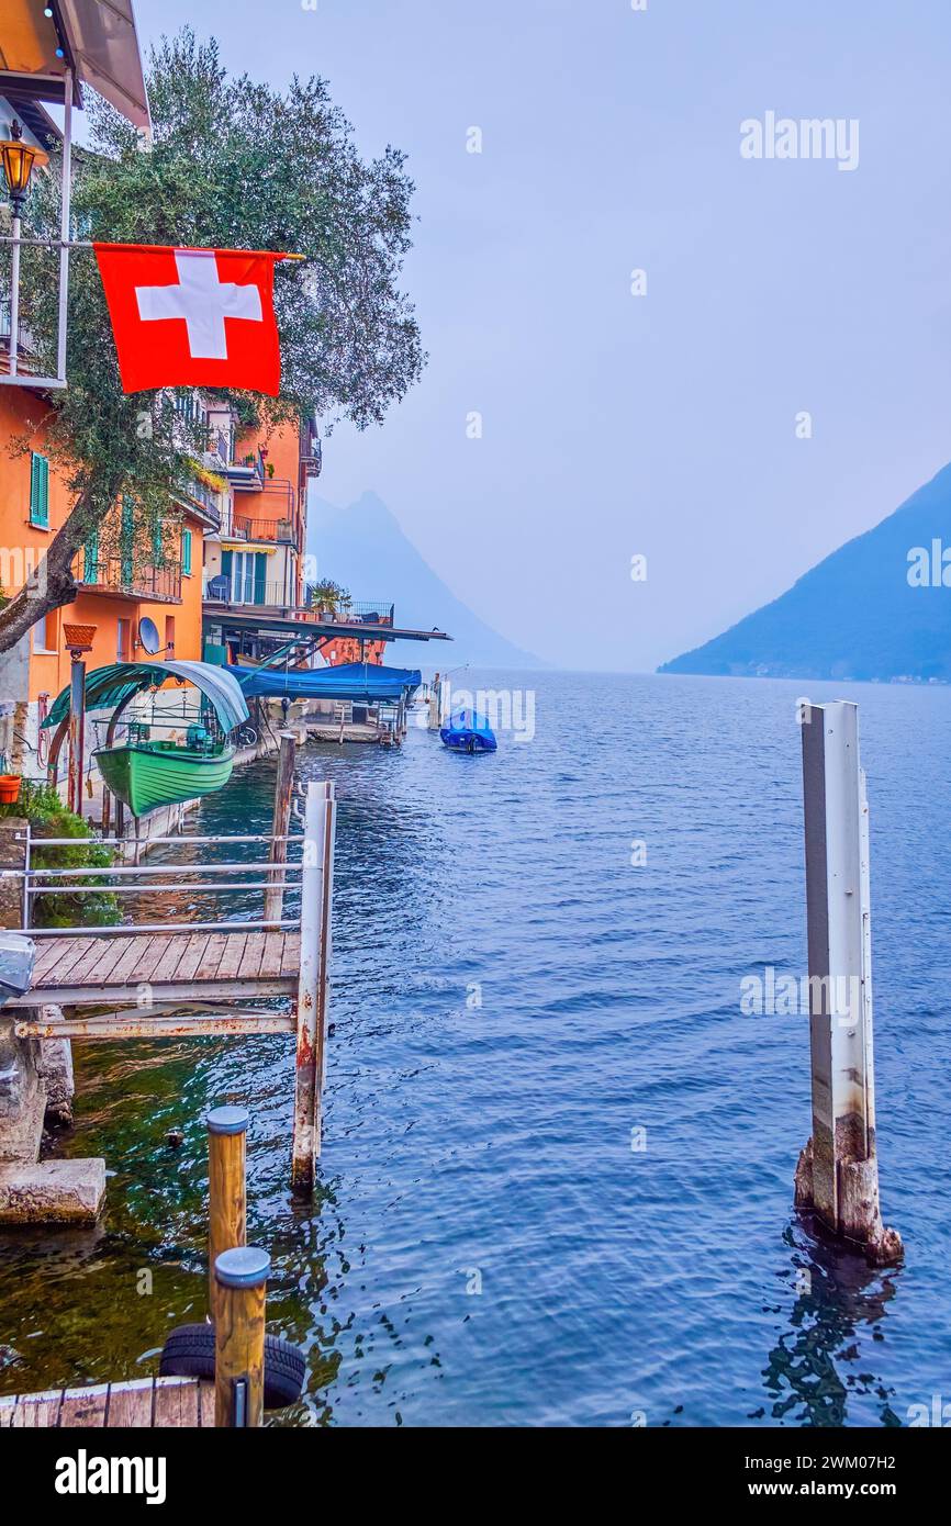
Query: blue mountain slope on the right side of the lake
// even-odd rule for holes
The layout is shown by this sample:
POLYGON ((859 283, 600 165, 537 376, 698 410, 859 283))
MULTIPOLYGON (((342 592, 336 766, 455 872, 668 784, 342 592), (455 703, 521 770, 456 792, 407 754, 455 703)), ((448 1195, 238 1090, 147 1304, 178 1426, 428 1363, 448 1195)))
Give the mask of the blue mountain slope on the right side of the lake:
POLYGON ((951 682, 951 465, 780 598, 658 671, 951 682))

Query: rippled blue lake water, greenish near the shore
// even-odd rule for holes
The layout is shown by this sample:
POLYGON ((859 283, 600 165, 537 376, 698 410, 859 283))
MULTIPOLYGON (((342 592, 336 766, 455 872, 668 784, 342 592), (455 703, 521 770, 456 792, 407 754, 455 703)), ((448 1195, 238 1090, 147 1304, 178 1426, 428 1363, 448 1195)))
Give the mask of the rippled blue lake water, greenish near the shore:
MULTIPOLYGON (((299 755, 339 798, 313 1206, 287 1192, 290 1039, 76 1045, 61 1148, 105 1155, 108 1212, 0 1238, 0 1390, 147 1375, 203 1317, 203 1117, 241 1099, 270 1328, 308 1352, 279 1424, 895 1425, 951 1401, 951 691, 466 681, 531 685, 534 739, 299 755), (861 708, 899 1270, 797 1221, 808 1019, 739 1006, 745 975, 804 972, 801 693, 861 708)), ((266 830, 273 774, 192 830, 266 830)))

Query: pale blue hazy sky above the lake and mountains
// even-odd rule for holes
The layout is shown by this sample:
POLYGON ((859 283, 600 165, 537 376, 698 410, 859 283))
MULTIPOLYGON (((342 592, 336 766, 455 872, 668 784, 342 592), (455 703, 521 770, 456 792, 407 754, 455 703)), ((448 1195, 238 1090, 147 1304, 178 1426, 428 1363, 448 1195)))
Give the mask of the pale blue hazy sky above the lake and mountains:
POLYGON ((189 23, 273 84, 322 73, 366 153, 409 153, 430 366, 382 430, 334 433, 321 493, 377 491, 521 645, 650 668, 951 456, 948 0, 136 14, 145 41, 189 23), (768 110, 856 118, 858 169, 743 160, 740 122, 768 110))

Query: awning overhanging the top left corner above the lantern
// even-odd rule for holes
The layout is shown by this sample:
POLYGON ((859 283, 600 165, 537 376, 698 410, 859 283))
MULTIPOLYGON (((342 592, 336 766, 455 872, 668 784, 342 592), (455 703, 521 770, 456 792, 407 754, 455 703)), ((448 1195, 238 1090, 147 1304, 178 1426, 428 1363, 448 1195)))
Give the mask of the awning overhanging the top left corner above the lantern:
POLYGON ((148 127, 133 0, 56 0, 55 15, 43 12, 38 0, 3 0, 0 92, 63 101, 73 69, 76 105, 78 85, 89 84, 134 127, 148 127))

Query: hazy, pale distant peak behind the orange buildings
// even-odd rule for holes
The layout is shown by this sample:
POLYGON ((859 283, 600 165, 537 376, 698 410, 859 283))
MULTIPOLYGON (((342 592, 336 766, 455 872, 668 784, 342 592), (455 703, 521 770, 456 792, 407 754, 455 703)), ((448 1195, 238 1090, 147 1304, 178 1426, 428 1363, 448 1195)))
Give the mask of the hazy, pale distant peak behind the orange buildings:
POLYGON ((406 539, 397 519, 376 493, 363 493, 348 508, 311 497, 307 511, 308 551, 318 575, 342 583, 354 600, 395 604, 397 626, 446 630, 452 644, 397 641, 392 661, 406 667, 545 667, 540 658, 507 641, 452 594, 406 539))

